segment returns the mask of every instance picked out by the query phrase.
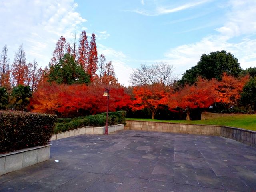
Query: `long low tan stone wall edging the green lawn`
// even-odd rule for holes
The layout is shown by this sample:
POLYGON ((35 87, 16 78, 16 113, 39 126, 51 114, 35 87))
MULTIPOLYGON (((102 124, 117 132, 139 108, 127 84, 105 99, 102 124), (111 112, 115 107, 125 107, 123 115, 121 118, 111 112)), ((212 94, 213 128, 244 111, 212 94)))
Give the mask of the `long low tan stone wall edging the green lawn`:
POLYGON ((125 129, 223 136, 256 147, 256 132, 227 126, 126 120, 125 129))

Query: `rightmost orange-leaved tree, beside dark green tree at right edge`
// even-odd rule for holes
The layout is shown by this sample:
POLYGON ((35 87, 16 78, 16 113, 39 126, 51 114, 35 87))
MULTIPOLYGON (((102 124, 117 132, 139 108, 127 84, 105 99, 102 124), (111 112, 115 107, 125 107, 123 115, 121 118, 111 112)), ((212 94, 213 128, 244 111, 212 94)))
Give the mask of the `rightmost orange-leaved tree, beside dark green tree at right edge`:
POLYGON ((240 93, 244 85, 249 81, 249 76, 235 78, 234 76, 222 75, 222 80, 216 84, 215 90, 218 92, 216 102, 220 102, 226 109, 239 104, 240 93))

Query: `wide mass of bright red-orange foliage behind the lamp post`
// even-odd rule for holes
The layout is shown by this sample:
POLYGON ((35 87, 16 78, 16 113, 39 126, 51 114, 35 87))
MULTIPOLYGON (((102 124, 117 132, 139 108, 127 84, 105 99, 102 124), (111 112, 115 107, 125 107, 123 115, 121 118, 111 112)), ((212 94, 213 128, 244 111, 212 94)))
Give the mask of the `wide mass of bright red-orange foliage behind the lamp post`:
MULTIPOLYGON (((59 116, 81 116, 106 111, 107 100, 103 96, 102 84, 56 84, 42 83, 30 102, 34 112, 58 114, 59 116)), ((110 87, 109 110, 121 109, 130 97, 122 87, 110 87)))

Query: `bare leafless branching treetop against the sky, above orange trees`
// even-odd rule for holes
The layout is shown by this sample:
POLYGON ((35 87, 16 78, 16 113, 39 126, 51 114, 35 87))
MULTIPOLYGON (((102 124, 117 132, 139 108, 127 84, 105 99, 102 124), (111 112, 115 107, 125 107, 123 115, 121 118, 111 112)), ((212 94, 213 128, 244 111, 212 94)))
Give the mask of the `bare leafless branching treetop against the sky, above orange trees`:
POLYGON ((172 75, 173 70, 173 66, 166 62, 159 62, 150 66, 141 64, 139 69, 132 71, 130 82, 133 86, 152 86, 155 83, 172 86, 176 80, 176 77, 172 75))

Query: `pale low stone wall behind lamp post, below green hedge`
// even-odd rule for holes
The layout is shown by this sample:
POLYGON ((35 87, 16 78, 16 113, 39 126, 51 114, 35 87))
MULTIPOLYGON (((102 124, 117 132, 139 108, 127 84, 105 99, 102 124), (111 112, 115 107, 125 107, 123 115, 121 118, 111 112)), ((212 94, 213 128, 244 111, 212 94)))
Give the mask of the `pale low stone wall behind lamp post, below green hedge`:
MULTIPOLYGON (((108 126, 108 132, 115 132, 118 130, 124 129, 124 124, 118 124, 118 125, 111 125, 108 126)), ((76 135, 82 135, 82 134, 98 134, 98 135, 103 135, 105 132, 105 127, 81 127, 78 129, 62 132, 62 133, 57 133, 52 135, 51 141, 57 140, 57 139, 62 139, 62 138, 67 138, 67 137, 72 137, 76 135)))

